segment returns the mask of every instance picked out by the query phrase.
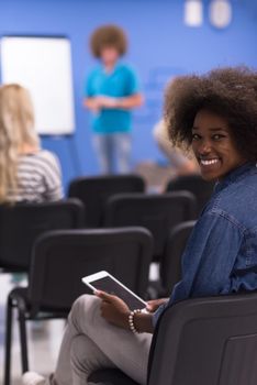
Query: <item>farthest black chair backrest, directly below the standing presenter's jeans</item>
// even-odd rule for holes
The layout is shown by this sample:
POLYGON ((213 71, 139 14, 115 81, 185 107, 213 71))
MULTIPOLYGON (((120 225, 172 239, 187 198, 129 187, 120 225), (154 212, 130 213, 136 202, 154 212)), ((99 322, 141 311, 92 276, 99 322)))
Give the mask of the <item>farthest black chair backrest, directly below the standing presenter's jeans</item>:
POLYGON ((145 183, 137 175, 78 178, 70 183, 68 196, 79 198, 87 207, 85 226, 99 228, 108 198, 120 193, 144 193, 145 183))

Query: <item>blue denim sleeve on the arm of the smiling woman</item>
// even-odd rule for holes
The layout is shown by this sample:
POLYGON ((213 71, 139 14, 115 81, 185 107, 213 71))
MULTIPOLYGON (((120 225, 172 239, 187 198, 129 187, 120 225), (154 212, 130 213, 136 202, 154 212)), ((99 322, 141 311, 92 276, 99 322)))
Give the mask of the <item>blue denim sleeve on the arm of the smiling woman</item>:
POLYGON ((182 256, 182 279, 167 305, 154 314, 154 324, 166 306, 190 297, 219 295, 230 280, 243 237, 243 229, 233 218, 214 210, 204 212, 182 256))

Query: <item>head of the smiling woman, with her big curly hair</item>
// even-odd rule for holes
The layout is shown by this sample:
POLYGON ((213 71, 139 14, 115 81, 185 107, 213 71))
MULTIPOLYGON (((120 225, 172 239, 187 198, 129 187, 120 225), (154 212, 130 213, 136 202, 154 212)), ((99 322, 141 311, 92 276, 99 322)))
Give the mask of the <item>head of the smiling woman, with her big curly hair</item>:
POLYGON ((214 178, 224 176, 237 162, 256 162, 257 73, 238 67, 178 77, 167 88, 165 117, 170 140, 176 145, 192 145, 198 161, 212 160, 216 151, 214 158, 223 167, 214 178), (227 164, 232 155, 236 158, 227 164))

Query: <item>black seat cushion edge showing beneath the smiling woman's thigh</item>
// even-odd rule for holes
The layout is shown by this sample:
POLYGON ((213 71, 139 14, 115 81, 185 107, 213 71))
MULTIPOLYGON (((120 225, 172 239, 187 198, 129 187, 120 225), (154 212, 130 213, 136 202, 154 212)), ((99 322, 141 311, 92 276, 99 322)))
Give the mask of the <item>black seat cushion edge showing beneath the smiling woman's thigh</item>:
POLYGON ((107 369, 92 373, 89 383, 99 385, 138 385, 124 373, 115 369, 107 369))

